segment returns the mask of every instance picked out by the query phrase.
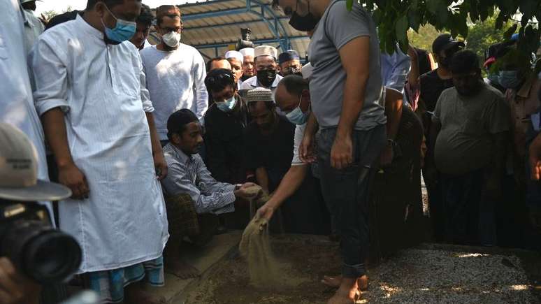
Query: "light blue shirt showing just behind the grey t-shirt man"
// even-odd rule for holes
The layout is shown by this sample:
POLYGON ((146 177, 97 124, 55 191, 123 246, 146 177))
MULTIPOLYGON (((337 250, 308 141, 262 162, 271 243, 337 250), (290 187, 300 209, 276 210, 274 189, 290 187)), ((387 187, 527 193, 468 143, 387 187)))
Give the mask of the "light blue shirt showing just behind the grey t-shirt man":
POLYGON ((381 61, 383 85, 403 92, 407 73, 410 72, 410 57, 397 49, 392 55, 382 53, 381 61))

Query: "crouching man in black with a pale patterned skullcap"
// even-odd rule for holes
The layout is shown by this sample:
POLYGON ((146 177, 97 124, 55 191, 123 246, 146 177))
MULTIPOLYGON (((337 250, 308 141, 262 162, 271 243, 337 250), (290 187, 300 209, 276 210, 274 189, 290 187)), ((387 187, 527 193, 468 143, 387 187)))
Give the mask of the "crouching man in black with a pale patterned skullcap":
POLYGON ((246 99, 253 120, 245 133, 246 166, 255 171, 257 184, 269 193, 291 165, 295 126, 276 113, 270 89, 252 89, 246 99))

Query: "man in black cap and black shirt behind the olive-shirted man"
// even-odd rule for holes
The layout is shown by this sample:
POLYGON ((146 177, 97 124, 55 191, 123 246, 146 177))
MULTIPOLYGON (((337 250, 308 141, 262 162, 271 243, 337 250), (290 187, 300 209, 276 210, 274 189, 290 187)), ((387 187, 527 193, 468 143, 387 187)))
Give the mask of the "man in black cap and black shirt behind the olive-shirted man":
MULTIPOLYGON (((424 126, 424 134, 427 138, 426 146, 431 147, 428 142, 428 134, 431 129, 432 113, 435 105, 440 98, 440 94, 445 89, 453 87, 452 73, 449 70, 449 64, 454 53, 464 48, 466 45, 462 41, 456 41, 449 34, 441 34, 435 38, 432 43, 432 52, 435 60, 438 61, 438 68, 421 75, 421 92, 419 96, 419 108, 417 113, 421 116, 424 126)), ((439 191, 436 188, 436 171, 434 166, 434 152, 431 148, 426 151, 426 157, 423 168, 423 178, 428 191, 428 203, 435 240, 443 238, 443 217, 438 197, 439 191)))

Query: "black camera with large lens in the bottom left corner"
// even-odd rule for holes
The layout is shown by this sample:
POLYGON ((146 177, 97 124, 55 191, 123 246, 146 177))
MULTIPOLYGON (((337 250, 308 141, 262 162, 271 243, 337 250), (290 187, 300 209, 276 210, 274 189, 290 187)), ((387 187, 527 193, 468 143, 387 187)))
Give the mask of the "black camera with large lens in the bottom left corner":
POLYGON ((41 284, 69 280, 82 258, 77 240, 52 227, 45 206, 1 198, 0 255, 41 284))

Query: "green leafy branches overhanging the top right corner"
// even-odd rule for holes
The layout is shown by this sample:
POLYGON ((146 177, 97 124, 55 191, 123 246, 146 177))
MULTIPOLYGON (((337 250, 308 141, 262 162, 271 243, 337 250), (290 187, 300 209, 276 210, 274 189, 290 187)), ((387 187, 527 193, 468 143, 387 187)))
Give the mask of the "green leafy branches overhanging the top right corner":
MULTIPOLYGON (((396 43, 402 50, 409 43, 407 30, 431 24, 438 31, 449 31, 452 36, 468 37, 468 21, 483 22, 497 14, 494 28, 502 30, 503 25, 519 13, 521 15, 518 49, 521 52, 535 52, 540 44, 540 29, 531 20, 541 20, 540 0, 347 0, 348 7, 359 1, 373 12, 378 25, 382 50, 394 52, 396 43)), ((505 31, 509 38, 517 31, 515 24, 505 31)))

